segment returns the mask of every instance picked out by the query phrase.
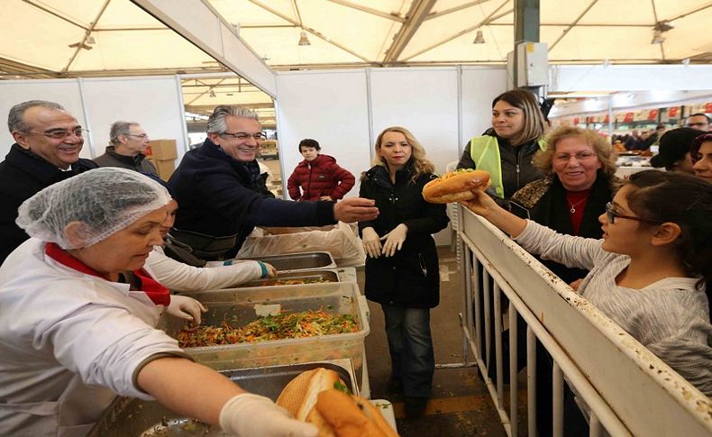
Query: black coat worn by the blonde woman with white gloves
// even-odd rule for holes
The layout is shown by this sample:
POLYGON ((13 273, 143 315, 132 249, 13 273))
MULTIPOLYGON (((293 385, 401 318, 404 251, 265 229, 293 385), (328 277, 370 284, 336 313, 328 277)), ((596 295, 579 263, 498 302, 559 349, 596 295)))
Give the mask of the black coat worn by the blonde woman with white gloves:
POLYGON ((366 259, 366 297, 379 304, 408 308, 433 308, 440 302, 440 269, 434 232, 449 221, 445 205, 424 201, 423 186, 435 178, 421 175, 411 180, 410 168, 396 174, 394 186, 388 170, 375 166, 361 180, 361 197, 376 201, 379 216, 372 222, 359 223, 359 230, 372 227, 379 236, 398 224, 408 227, 403 248, 393 257, 366 259))

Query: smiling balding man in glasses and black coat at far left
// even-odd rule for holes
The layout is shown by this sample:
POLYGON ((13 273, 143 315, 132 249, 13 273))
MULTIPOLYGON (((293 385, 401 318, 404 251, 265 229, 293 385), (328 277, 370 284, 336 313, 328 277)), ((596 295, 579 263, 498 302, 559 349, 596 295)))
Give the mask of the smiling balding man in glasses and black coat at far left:
POLYGON ((14 220, 17 208, 45 187, 96 168, 80 159, 86 132, 72 114, 53 102, 14 105, 7 126, 15 143, 0 162, 0 263, 29 237, 14 220))

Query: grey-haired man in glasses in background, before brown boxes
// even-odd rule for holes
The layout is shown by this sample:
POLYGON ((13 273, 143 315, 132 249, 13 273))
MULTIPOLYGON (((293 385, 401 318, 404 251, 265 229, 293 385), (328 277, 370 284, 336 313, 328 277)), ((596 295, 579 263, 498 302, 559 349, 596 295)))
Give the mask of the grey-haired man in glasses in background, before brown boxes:
POLYGON ((96 157, 94 162, 99 167, 120 167, 158 175, 153 163, 146 159, 149 147, 149 135, 141 124, 135 122, 115 122, 109 131, 110 146, 104 155, 96 157))

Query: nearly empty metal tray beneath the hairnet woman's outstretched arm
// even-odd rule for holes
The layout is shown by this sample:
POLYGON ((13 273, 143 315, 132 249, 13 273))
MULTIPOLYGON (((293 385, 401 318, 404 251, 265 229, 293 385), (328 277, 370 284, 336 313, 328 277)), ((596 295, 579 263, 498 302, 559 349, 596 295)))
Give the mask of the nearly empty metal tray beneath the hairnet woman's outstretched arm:
MULTIPOLYGON (((332 369, 339 378, 358 393, 358 385, 353 376, 349 360, 332 360, 277 366, 263 369, 224 370, 221 373, 240 387, 277 400, 282 388, 300 373, 316 369, 332 369)), ((181 414, 174 413, 155 401, 144 401, 132 397, 117 397, 109 405, 102 418, 87 434, 88 437, 158 437, 174 436, 224 436, 220 429, 199 423, 181 414)))

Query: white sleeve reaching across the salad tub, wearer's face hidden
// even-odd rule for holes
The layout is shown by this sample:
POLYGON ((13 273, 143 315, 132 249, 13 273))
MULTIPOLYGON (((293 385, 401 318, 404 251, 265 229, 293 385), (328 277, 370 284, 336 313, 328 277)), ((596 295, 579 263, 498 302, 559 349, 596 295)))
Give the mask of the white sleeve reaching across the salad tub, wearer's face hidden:
POLYGON ((156 246, 143 266, 151 277, 176 291, 217 290, 264 278, 267 269, 259 261, 241 261, 230 266, 200 268, 169 258, 156 246))

